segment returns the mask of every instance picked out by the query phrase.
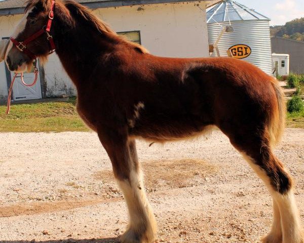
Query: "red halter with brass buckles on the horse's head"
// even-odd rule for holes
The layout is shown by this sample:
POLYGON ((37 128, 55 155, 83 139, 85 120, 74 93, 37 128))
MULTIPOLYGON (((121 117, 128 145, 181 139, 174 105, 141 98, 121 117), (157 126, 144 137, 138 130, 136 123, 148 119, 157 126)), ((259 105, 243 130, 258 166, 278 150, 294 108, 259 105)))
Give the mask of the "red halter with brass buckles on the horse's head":
POLYGON ((54 43, 54 40, 53 40, 53 36, 50 33, 51 26, 52 26, 52 21, 54 19, 54 7, 55 7, 55 0, 52 1, 51 11, 49 13, 49 20, 48 20, 47 26, 44 26, 41 30, 39 30, 38 32, 31 35, 30 37, 28 37, 23 42, 18 42, 18 41, 16 41, 16 39, 11 37, 12 43, 18 48, 18 50, 21 51, 21 52, 24 52, 32 60, 36 59, 36 55, 33 54, 31 51, 29 51, 26 48, 26 45, 29 44, 30 42, 32 42, 34 39, 38 38, 40 35, 44 34, 44 33, 47 34, 47 40, 50 43, 50 54, 53 53, 56 49, 55 48, 55 43, 54 43))

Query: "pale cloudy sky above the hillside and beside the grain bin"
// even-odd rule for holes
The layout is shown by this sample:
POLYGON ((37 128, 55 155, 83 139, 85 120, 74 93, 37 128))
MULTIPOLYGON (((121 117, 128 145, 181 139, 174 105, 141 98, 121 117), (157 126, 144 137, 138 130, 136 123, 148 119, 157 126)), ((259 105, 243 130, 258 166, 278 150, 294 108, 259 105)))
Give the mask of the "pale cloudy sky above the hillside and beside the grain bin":
POLYGON ((271 25, 304 17, 304 0, 236 0, 258 13, 271 18, 271 25))

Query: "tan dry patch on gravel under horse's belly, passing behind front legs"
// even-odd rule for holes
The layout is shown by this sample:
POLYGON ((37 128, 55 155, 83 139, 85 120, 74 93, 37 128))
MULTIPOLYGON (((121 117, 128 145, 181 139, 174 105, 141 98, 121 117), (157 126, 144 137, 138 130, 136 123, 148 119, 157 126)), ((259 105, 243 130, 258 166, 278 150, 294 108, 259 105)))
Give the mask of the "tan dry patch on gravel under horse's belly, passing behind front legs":
MULTIPOLYGON (((202 159, 160 159, 142 163, 147 192, 164 188, 193 187, 208 181, 218 168, 202 159)), ((93 174, 96 180, 113 182, 111 170, 93 174)))

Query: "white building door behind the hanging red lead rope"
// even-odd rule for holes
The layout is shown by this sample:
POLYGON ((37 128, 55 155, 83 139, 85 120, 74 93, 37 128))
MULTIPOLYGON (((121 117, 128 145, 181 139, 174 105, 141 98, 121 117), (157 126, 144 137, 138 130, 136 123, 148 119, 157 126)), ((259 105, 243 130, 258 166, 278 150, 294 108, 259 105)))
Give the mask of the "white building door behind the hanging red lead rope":
MULTIPOLYGON (((11 77, 13 80, 15 73, 11 72, 11 77)), ((31 72, 26 72, 23 74, 23 79, 25 84, 32 84, 34 80, 35 74, 33 69, 31 72)), ((13 99, 14 101, 18 100, 33 100, 33 99, 41 99, 41 86, 40 86, 40 73, 38 72, 37 82, 34 86, 27 87, 22 84, 21 77, 18 75, 16 77, 14 86, 13 86, 13 99)))

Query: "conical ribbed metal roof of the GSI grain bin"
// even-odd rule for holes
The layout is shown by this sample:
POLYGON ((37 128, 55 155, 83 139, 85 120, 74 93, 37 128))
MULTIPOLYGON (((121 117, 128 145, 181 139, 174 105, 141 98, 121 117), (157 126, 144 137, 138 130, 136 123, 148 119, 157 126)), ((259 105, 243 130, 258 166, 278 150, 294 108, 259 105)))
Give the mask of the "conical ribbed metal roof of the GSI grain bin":
POLYGON ((207 9, 207 23, 220 23, 239 20, 270 20, 270 18, 257 13, 253 9, 237 3, 236 1, 224 0, 207 9))

